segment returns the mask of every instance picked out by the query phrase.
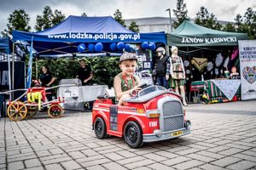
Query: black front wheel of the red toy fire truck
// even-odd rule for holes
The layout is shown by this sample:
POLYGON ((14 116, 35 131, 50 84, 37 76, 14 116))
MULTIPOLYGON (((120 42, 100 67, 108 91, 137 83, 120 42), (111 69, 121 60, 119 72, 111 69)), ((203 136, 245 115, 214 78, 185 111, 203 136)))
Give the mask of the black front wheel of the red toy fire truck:
POLYGON ((131 148, 138 148, 143 145, 143 130, 137 122, 126 123, 124 139, 131 148))

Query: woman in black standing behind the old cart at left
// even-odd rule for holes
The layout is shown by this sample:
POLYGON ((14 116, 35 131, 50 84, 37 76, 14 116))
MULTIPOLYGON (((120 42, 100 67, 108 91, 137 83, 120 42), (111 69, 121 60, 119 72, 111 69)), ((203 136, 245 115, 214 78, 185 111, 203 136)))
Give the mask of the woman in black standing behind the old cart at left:
MULTIPOLYGON (((42 87, 49 88, 52 86, 52 84, 55 82, 55 77, 53 74, 49 71, 49 67, 47 65, 43 65, 41 68, 41 74, 38 79, 39 84, 42 87)), ((52 91, 51 91, 52 93, 52 91)), ((50 101, 52 100, 51 94, 46 94, 47 99, 50 101)))

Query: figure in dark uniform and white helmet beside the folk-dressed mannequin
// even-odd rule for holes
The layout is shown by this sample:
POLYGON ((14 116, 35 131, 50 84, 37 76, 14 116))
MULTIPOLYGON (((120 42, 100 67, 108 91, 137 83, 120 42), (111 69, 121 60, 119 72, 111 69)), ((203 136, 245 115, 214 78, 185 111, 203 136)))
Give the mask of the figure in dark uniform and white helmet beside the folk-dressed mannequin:
POLYGON ((157 58, 155 59, 155 77, 158 85, 168 88, 168 82, 166 80, 166 75, 169 75, 166 72, 166 63, 168 57, 166 54, 166 49, 159 47, 156 49, 157 58))

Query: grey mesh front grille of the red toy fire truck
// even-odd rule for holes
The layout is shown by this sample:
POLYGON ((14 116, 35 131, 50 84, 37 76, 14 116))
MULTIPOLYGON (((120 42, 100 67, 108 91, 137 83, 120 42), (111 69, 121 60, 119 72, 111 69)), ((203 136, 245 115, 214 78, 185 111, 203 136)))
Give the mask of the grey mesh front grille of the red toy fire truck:
POLYGON ((183 106, 176 100, 166 101, 160 108, 160 129, 163 132, 174 131, 184 127, 183 106))

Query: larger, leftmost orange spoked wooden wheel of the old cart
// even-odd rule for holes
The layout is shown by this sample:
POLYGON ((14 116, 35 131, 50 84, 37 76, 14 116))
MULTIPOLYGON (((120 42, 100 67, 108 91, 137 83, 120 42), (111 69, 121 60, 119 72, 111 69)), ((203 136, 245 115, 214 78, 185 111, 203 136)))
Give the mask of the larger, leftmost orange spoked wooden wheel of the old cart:
POLYGON ((27 108, 21 101, 11 102, 7 109, 9 119, 12 121, 21 121, 26 117, 27 108))

